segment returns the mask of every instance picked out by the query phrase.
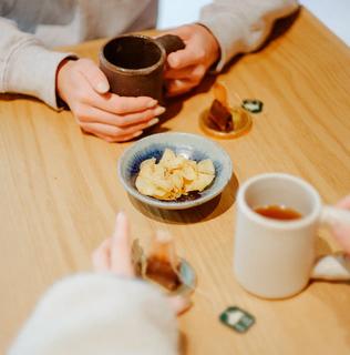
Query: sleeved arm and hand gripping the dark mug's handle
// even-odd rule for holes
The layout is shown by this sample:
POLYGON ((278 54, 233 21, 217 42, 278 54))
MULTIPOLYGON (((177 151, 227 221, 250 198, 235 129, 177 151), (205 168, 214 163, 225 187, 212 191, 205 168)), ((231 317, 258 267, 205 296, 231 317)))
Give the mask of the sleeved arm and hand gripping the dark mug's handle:
POLYGON ((168 55, 168 93, 184 93, 196 87, 213 65, 220 71, 236 54, 258 49, 275 21, 297 9, 296 0, 216 0, 204 7, 199 24, 168 31, 186 44, 168 55))

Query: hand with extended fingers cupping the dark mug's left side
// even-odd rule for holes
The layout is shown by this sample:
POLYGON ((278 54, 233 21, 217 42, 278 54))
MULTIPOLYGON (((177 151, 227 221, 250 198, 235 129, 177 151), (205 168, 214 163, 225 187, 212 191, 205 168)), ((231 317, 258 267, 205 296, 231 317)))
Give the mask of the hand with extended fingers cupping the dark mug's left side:
POLYGON ((106 77, 90 59, 64 60, 56 73, 56 92, 84 132, 107 142, 128 141, 158 122, 165 109, 147 98, 110 93, 106 77))

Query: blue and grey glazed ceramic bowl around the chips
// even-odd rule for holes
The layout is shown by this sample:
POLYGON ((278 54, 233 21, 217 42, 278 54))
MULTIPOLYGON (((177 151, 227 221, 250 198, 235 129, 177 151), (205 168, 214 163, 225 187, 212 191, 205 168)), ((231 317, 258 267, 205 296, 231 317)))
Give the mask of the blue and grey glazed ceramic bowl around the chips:
POLYGON ((200 135, 159 133, 146 136, 125 150, 119 161, 117 172, 125 190, 138 201, 158 209, 184 210, 198 206, 217 196, 231 178, 233 164, 224 149, 200 135), (177 155, 182 154, 195 161, 210 159, 215 166, 213 183, 200 193, 192 195, 193 200, 159 201, 141 194, 135 186, 140 164, 150 158, 159 161, 166 148, 177 155))

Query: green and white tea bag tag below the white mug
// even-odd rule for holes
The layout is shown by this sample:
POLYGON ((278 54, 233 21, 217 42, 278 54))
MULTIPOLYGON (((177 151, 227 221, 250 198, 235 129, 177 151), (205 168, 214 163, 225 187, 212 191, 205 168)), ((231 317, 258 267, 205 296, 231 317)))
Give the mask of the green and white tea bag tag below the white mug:
POLYGON ((247 332, 255 323, 255 317, 251 314, 236 306, 226 308, 220 314, 219 320, 238 333, 247 332))

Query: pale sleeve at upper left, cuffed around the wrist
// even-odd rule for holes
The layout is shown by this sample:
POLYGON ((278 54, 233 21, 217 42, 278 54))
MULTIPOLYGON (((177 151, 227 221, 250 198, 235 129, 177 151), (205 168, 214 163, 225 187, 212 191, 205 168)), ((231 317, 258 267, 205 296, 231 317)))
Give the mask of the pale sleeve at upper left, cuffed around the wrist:
POLYGON ((0 18, 0 92, 17 92, 58 109, 55 73, 69 53, 54 52, 13 21, 0 18))

